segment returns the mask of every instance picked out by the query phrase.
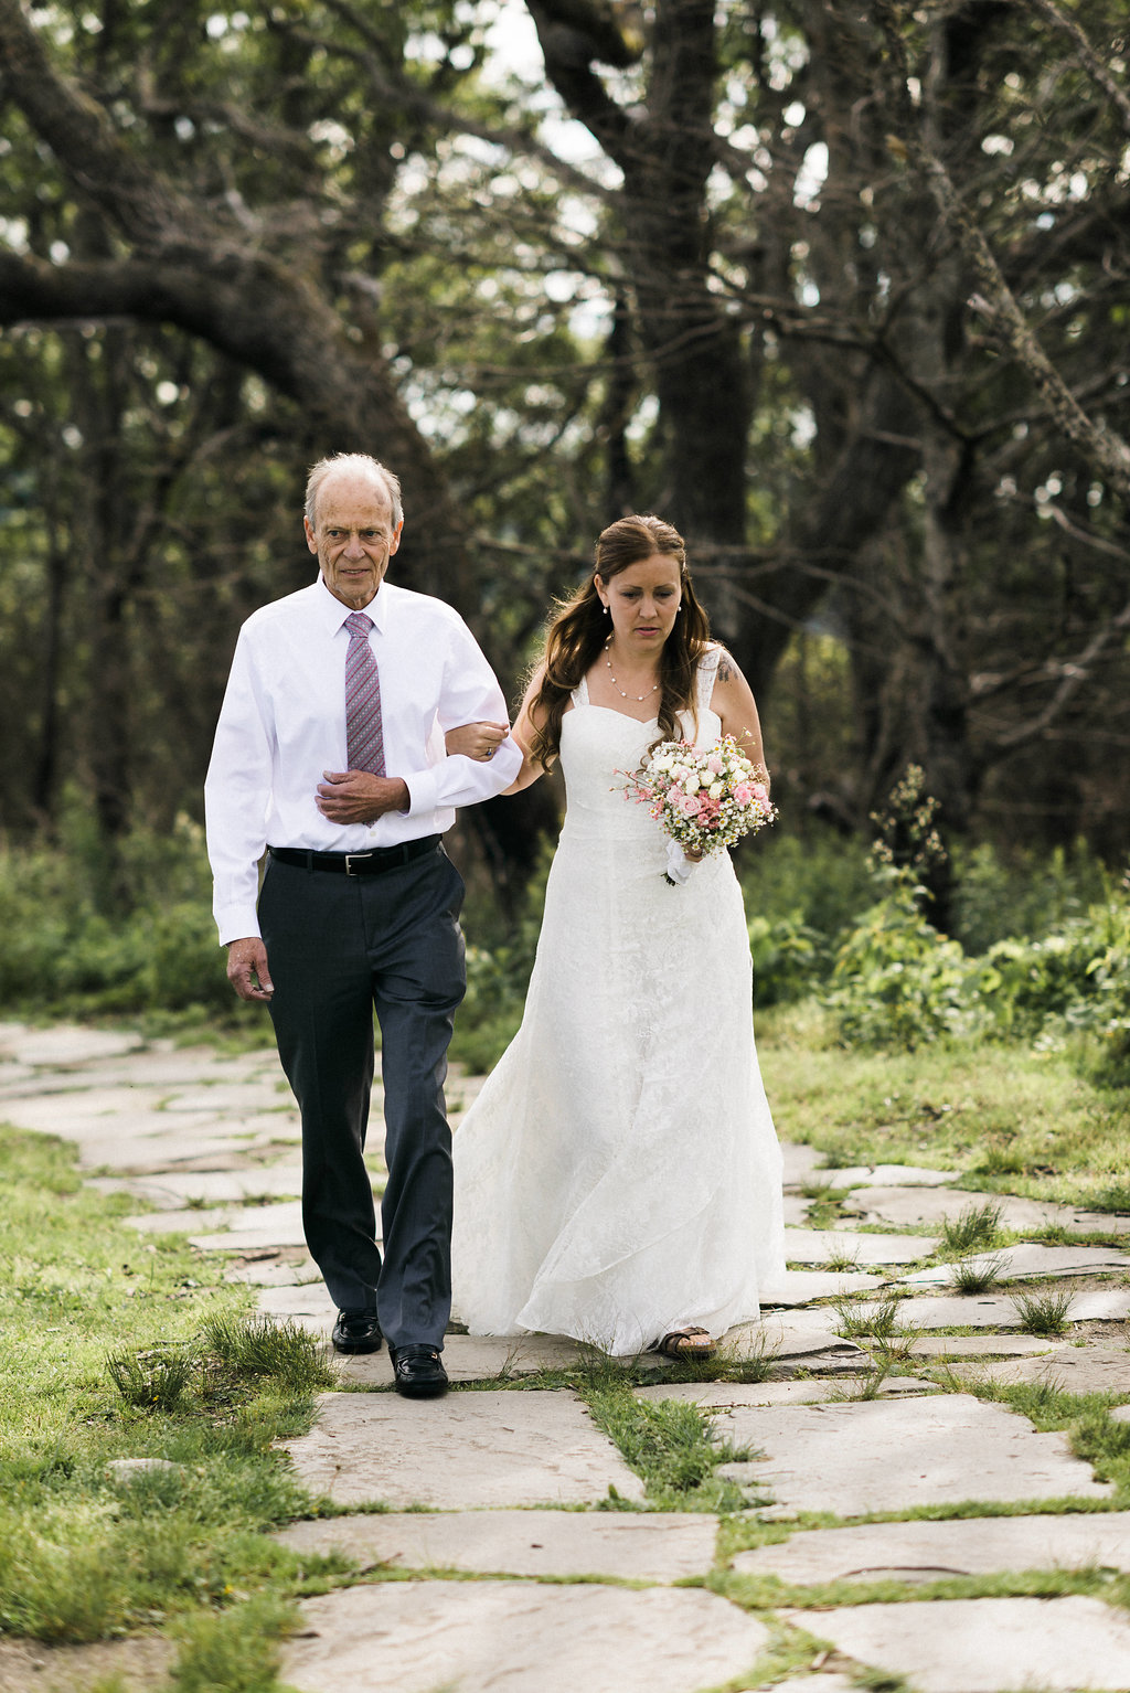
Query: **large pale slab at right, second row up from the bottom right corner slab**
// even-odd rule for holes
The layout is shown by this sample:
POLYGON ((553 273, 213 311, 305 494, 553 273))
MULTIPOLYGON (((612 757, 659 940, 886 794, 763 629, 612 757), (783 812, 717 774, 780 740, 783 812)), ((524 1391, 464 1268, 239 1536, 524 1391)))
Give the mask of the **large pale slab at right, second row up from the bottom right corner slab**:
POLYGON ((760 1409, 704 1383, 716 1436, 765 1454, 765 1490, 778 1510, 841 1517, 959 1500, 1108 1498, 1072 1458, 1064 1434, 966 1393, 907 1400, 760 1409))

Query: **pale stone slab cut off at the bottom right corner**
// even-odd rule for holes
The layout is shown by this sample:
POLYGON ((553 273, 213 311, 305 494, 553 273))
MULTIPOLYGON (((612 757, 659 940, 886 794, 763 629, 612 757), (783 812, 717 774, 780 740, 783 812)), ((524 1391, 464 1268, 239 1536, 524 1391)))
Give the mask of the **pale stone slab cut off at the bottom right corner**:
POLYGON ((1076 1693, 1130 1686, 1130 1617, 1096 1598, 963 1598, 783 1612, 915 1693, 1076 1693))

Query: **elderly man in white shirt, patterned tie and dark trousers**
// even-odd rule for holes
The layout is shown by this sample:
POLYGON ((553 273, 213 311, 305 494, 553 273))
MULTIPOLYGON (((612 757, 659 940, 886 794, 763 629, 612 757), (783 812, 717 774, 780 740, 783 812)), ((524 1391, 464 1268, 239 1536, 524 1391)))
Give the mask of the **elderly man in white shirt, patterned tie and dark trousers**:
POLYGON ((447 1046, 464 997, 464 884, 443 852, 455 808, 501 792, 521 753, 462 618, 386 582, 398 479, 362 454, 306 486, 318 581, 240 631, 205 786, 215 916, 240 999, 271 1007, 303 1117, 303 1222, 338 1319, 333 1344, 384 1334, 396 1388, 442 1393, 450 1314, 447 1046), (480 758, 445 731, 497 723, 480 758), (267 853, 255 902, 257 865, 267 853), (384 1258, 364 1163, 381 1023, 384 1258))

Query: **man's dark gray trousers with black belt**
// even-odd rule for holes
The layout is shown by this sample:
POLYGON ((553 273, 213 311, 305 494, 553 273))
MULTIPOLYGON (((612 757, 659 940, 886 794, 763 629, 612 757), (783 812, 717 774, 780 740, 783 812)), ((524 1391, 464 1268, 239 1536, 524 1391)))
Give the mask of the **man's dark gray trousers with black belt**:
POLYGON ((391 1346, 443 1346, 452 1309, 447 1048, 464 997, 464 882, 442 846, 382 875, 272 858, 259 923, 279 1058, 303 1116, 306 1244, 342 1310, 391 1346), (381 1024, 384 1261, 364 1150, 381 1024))

